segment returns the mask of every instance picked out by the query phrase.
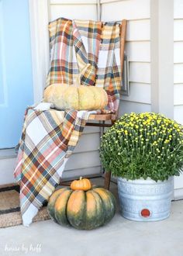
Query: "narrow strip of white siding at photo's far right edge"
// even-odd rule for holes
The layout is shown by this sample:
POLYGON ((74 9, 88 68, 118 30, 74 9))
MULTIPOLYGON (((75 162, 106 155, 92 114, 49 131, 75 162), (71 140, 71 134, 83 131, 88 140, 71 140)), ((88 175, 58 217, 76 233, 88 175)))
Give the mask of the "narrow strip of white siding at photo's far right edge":
MULTIPOLYGON (((183 124, 183 1, 174 0, 174 119, 183 124)), ((181 189, 183 175, 174 179, 181 189)))

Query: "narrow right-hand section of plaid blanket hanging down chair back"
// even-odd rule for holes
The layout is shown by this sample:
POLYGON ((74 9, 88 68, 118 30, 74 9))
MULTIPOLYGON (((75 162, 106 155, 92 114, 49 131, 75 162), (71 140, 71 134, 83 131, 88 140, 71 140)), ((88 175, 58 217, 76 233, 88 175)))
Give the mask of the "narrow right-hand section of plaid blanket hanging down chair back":
POLYGON ((102 29, 102 43, 98 55, 98 69, 95 86, 105 88, 110 110, 119 108, 120 70, 120 29, 116 22, 105 22, 102 29))

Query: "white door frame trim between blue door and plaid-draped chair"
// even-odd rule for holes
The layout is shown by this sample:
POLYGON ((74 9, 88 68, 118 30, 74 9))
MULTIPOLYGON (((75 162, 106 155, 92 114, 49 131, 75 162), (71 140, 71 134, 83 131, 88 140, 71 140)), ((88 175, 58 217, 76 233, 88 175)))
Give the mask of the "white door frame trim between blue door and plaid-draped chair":
POLYGON ((49 68, 49 9, 47 0, 29 0, 29 19, 33 63, 34 102, 40 102, 49 68))

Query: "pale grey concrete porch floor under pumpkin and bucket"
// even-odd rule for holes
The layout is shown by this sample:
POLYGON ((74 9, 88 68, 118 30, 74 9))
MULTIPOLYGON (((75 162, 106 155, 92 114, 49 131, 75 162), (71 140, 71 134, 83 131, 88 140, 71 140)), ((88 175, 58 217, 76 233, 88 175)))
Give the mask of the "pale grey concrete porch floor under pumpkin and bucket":
MULTIPOLYGON (((94 184, 103 184, 102 178, 94 184)), ((117 196, 114 183, 111 191, 117 196)), ((182 256, 183 200, 172 202, 171 216, 154 223, 139 223, 116 216, 97 230, 60 227, 51 220, 30 227, 0 230, 0 255, 43 256, 182 256)))

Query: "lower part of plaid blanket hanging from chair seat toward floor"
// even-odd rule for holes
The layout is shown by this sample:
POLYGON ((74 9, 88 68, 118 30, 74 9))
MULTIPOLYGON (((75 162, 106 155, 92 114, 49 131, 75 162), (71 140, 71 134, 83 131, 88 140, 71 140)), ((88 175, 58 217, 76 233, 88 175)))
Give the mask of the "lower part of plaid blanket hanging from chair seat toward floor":
POLYGON ((14 171, 25 226, 59 184, 87 119, 86 111, 27 109, 14 171))

